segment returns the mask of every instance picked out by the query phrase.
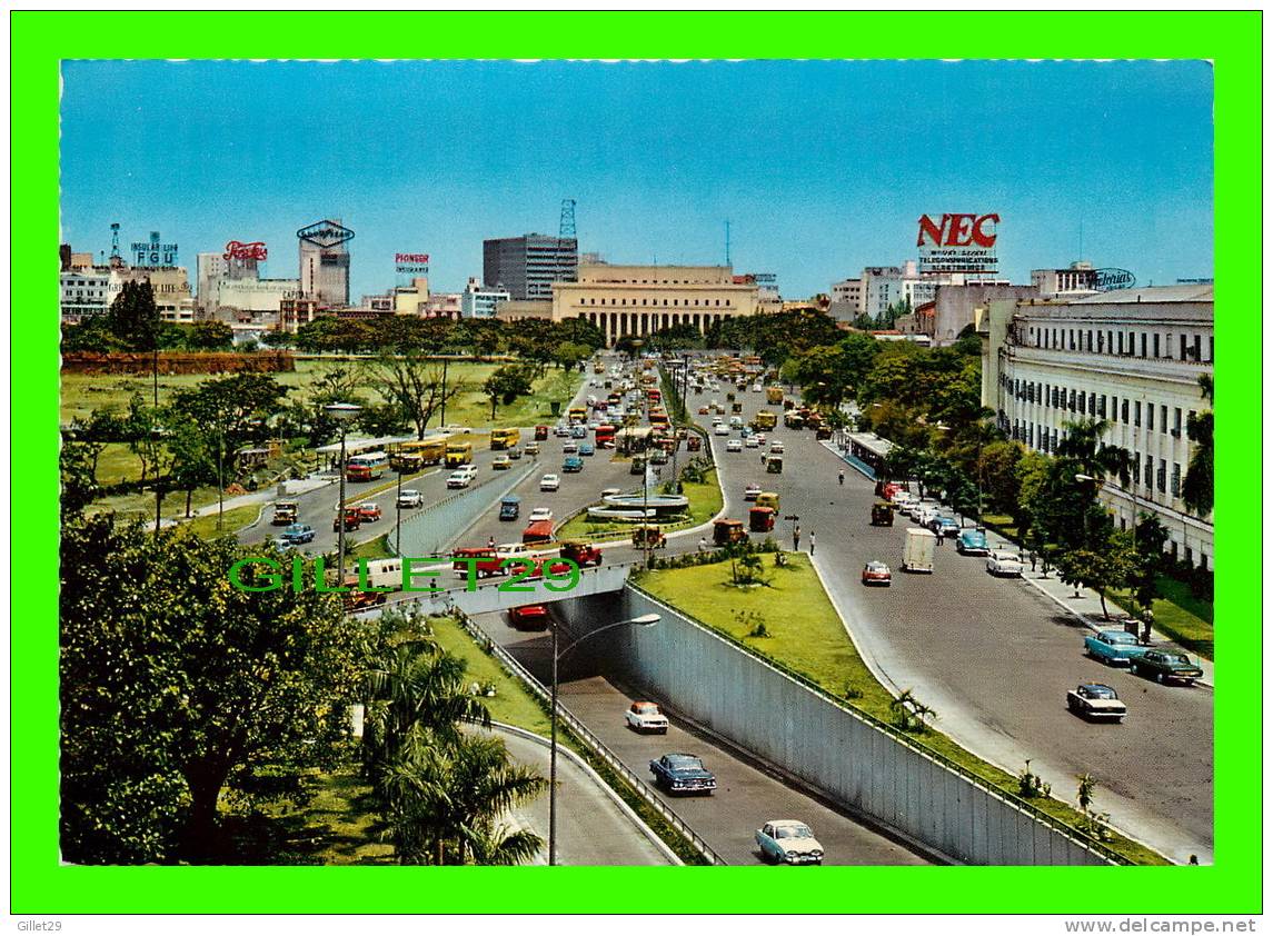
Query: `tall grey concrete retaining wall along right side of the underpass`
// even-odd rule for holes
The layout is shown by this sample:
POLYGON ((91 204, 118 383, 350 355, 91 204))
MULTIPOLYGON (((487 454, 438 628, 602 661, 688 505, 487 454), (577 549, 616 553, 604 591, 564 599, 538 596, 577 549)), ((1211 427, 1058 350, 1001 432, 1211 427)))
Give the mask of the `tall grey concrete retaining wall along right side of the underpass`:
MULTIPOLYGON (((830 798, 970 865, 1102 865, 1096 852, 631 587, 558 605, 565 629, 658 614, 605 656, 652 694, 830 798)), ((601 643, 601 642, 598 642, 601 643)), ((584 644, 587 646, 587 644, 584 644)), ((594 651, 601 655, 601 651, 594 651)))

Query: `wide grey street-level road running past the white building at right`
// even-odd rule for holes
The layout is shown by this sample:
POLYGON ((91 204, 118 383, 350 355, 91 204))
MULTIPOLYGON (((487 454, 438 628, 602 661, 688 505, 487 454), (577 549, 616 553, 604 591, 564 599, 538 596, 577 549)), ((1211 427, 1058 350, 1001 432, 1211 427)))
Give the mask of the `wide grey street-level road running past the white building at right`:
MULTIPOLYGON (((708 396, 691 399, 696 406, 708 396)), ((718 395, 719 396, 719 395, 718 395)), ((746 397, 747 419, 763 408, 746 397)), ((853 639, 897 689, 938 712, 937 727, 1012 773, 1025 759, 1073 801, 1076 774, 1097 781, 1095 806, 1120 829, 1178 861, 1213 851, 1212 691, 1161 686, 1082 653, 1087 630, 1025 582, 997 579, 985 560, 961 557, 947 541, 932 576, 901 573, 904 530, 869 525, 873 484, 816 442, 779 428, 785 471, 764 474, 756 450, 726 453, 713 437, 727 514, 746 518, 743 488, 757 481, 782 497, 782 514, 799 517, 801 549, 817 534, 816 565, 853 639), (836 474, 845 467, 845 483, 836 474), (889 588, 864 588, 873 559, 894 569, 889 588), (1088 723, 1066 708, 1081 681, 1114 686, 1127 700, 1122 725, 1088 723)), ((791 548, 793 522, 775 531, 791 548)))

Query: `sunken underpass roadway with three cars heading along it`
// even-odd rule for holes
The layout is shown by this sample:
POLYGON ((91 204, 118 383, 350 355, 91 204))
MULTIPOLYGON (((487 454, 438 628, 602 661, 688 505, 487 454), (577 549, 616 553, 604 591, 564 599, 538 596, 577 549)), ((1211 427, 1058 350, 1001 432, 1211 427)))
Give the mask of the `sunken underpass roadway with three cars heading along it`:
MULTIPOLYGON (((475 618, 481 628, 517 656, 536 676, 547 680, 549 638, 508 627, 503 614, 475 618)), ((850 819, 759 769, 675 714, 663 735, 638 735, 628 728, 624 712, 633 695, 626 688, 594 672, 587 662, 563 661, 559 679, 561 706, 578 717, 638 777, 649 781, 649 762, 671 751, 694 753, 717 777, 712 796, 671 796, 657 790, 671 809, 729 865, 759 865, 755 832, 770 819, 801 819, 826 849, 827 865, 924 865, 915 854, 878 832, 850 819)), ((640 698, 649 698, 642 695, 640 698)), ((653 699, 662 702, 661 699, 653 699)), ((560 810, 568 810, 558 800, 560 810)))

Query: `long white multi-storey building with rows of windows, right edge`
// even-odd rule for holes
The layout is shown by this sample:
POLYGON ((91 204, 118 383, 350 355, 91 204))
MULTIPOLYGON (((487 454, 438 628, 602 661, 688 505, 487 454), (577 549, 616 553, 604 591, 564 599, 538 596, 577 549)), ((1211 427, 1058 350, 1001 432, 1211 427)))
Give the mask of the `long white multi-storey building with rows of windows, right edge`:
POLYGON ((1192 414, 1211 409, 1198 378, 1214 363, 1209 285, 1146 287, 1068 302, 998 299, 979 309, 981 402, 1012 438, 1054 452, 1066 424, 1105 419, 1105 441, 1132 453, 1130 488, 1105 480, 1101 497, 1127 528, 1158 517, 1167 549, 1211 567, 1212 517, 1180 498, 1194 443, 1192 414))

